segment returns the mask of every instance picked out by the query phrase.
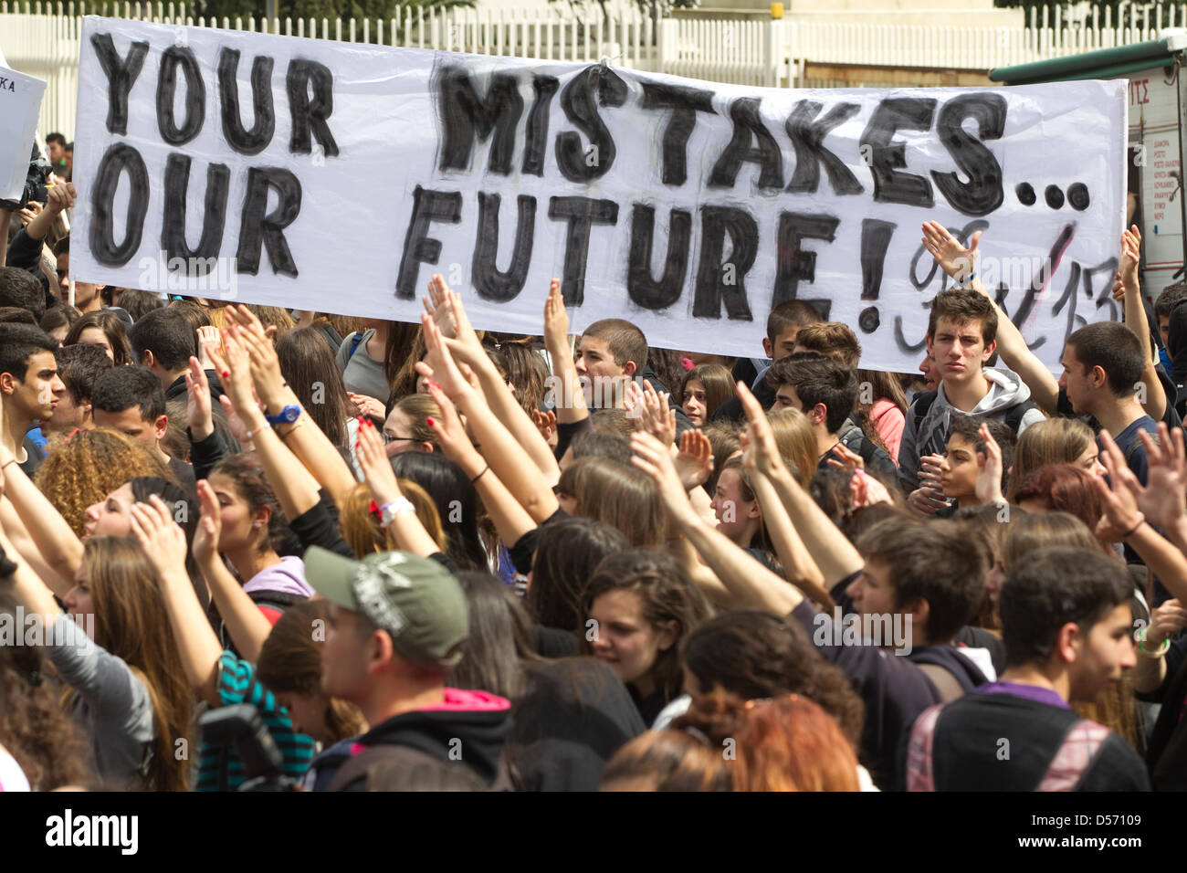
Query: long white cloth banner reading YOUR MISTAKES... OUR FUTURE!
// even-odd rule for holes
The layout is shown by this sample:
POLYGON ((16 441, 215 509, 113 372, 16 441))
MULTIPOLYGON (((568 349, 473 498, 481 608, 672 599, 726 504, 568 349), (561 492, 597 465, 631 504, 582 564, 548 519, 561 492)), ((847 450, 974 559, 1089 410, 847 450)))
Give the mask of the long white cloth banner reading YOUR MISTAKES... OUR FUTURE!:
POLYGON ((576 330, 748 356, 799 298, 913 371, 934 219, 984 230, 1052 367, 1121 315, 1124 82, 747 88, 87 18, 78 107, 94 281, 411 321, 440 272, 476 327, 538 334, 557 276, 576 330))

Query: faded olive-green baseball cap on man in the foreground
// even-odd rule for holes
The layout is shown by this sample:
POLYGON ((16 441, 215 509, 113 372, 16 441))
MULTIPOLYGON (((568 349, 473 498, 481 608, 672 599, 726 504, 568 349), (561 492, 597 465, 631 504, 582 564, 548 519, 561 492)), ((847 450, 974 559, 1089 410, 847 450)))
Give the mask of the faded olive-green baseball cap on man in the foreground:
POLYGON ((305 552, 305 580, 331 603, 366 615, 395 650, 424 668, 451 668, 470 633, 465 594, 436 561, 404 551, 347 558, 320 546, 305 552))

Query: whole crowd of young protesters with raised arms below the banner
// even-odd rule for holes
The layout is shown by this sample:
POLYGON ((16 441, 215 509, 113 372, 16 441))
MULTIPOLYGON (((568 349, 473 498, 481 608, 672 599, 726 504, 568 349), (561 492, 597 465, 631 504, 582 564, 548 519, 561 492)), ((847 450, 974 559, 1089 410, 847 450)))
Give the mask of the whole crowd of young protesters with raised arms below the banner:
POLYGON ((559 281, 539 336, 440 276, 419 323, 71 283, 76 196, 0 267, 0 790, 1187 784, 1187 284, 1136 228, 1056 381, 937 222, 896 374, 802 301, 734 359, 559 281))

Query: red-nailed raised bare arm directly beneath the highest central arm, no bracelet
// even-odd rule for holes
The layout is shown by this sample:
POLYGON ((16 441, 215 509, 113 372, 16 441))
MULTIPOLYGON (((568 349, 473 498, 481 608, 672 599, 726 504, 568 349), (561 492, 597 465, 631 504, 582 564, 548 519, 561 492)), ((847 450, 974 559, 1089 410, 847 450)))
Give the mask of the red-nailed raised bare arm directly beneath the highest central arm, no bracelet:
MULTIPOLYGON (((490 464, 490 469, 510 489, 515 500, 527 510, 532 519, 539 524, 550 518, 559 507, 557 496, 552 493, 556 480, 532 462, 518 435, 513 435, 496 416, 490 415, 484 392, 476 391, 462 375, 433 320, 424 315, 420 321, 425 325, 425 347, 429 354, 424 361, 417 363, 417 372, 436 380, 445 396, 462 410, 466 428, 478 444, 482 456, 490 464)), ((518 406, 516 410, 523 416, 523 410, 518 406)), ((544 443, 531 419, 526 416, 523 418, 531 425, 534 439, 544 443)))

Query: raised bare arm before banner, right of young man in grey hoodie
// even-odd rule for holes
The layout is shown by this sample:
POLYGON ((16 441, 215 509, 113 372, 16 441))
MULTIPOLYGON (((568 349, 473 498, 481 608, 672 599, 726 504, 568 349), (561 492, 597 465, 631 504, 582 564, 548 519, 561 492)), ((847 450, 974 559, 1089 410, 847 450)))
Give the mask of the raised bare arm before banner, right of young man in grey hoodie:
POLYGON ((938 221, 923 222, 923 246, 950 277, 989 298, 997 312, 997 350, 1007 367, 1018 374, 1018 378, 1030 388, 1030 399, 1048 416, 1055 415, 1059 404, 1059 385, 1055 377, 1042 361, 1027 347, 1010 317, 1005 315, 994 296, 985 290, 977 271, 977 246, 980 242, 980 230, 972 235, 969 248, 960 245, 948 229, 938 221), (971 277, 971 278, 970 278, 971 277))

